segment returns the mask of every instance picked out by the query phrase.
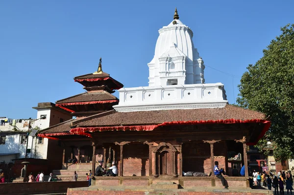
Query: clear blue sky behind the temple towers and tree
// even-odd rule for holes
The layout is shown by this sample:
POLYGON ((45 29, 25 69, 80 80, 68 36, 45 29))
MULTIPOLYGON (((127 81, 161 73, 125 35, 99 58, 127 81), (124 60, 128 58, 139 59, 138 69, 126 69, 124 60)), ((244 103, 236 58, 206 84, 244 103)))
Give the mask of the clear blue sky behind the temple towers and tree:
POLYGON ((205 83, 223 83, 229 103, 247 65, 294 23, 293 0, 1 0, 0 116, 35 118, 38 102, 84 92, 73 77, 96 71, 99 57, 125 87, 147 86, 174 7, 194 32, 205 83))

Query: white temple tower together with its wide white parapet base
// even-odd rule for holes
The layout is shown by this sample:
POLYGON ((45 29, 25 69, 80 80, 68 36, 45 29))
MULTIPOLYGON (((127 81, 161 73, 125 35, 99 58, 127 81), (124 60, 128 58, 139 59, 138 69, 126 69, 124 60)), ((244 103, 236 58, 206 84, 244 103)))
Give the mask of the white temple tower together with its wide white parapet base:
POLYGON ((192 30, 175 9, 173 21, 159 29, 149 86, 121 88, 116 111, 220 108, 227 104, 223 84, 205 84, 204 61, 193 43, 192 30))

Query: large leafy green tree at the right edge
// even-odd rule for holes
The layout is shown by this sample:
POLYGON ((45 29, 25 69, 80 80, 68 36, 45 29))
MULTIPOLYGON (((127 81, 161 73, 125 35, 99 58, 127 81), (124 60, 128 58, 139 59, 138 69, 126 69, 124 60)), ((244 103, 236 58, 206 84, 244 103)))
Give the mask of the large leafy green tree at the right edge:
POLYGON ((269 116, 270 130, 257 146, 264 148, 265 140, 272 141, 278 162, 294 154, 294 24, 281 31, 263 51, 264 56, 248 65, 237 98, 241 107, 269 116))

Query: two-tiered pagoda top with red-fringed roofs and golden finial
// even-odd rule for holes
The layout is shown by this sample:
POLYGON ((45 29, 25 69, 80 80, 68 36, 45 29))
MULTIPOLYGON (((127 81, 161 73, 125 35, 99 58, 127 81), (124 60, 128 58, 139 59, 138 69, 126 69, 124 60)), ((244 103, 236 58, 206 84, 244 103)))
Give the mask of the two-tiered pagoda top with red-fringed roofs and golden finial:
POLYGON ((102 71, 101 58, 96 72, 74 77, 73 80, 82 84, 87 92, 56 101, 56 106, 72 112, 73 116, 80 118, 113 110, 112 106, 119 103, 112 93, 122 88, 123 84, 102 71))

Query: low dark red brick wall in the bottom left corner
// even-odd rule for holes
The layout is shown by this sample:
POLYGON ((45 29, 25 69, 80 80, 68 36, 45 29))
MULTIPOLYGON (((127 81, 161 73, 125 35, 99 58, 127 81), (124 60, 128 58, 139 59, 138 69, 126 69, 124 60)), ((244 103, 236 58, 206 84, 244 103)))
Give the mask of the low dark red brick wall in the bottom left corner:
POLYGON ((0 183, 1 195, 34 195, 65 193, 68 188, 88 187, 88 181, 0 183))

